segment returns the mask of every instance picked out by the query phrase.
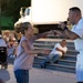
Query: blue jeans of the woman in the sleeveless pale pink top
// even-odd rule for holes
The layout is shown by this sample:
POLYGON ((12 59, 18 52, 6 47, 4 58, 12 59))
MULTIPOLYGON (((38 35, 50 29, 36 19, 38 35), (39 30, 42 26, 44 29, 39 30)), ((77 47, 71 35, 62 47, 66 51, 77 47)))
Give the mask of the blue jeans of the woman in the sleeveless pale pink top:
POLYGON ((29 70, 14 71, 17 83, 29 83, 29 70))

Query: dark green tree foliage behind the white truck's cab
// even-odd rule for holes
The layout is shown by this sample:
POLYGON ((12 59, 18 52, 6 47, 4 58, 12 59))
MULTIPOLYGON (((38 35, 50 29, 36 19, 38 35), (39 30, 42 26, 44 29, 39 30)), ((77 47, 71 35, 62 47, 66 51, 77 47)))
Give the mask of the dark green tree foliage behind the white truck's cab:
POLYGON ((31 0, 2 0, 1 11, 3 15, 13 17, 17 21, 20 18, 20 8, 30 6, 31 0))

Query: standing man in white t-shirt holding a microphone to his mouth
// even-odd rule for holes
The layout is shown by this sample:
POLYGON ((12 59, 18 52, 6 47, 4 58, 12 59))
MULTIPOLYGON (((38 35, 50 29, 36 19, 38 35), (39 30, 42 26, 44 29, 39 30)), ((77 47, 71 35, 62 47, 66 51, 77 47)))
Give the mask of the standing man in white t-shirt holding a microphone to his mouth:
POLYGON ((66 37, 74 40, 75 50, 80 52, 76 60, 76 79, 77 83, 83 83, 83 19, 77 7, 69 10, 69 21, 74 24, 73 29, 70 31, 65 24, 62 25, 62 29, 66 37))

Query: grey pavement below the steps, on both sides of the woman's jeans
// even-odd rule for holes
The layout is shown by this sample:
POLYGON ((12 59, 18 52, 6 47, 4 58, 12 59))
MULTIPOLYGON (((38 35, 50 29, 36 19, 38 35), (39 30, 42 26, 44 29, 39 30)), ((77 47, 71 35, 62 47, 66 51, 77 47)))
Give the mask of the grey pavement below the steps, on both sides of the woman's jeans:
MULTIPOLYGON (((8 70, 0 69, 0 79, 6 83, 17 83, 12 64, 8 65, 8 70)), ((76 80, 73 73, 33 68, 30 70, 29 83, 76 83, 76 80)))

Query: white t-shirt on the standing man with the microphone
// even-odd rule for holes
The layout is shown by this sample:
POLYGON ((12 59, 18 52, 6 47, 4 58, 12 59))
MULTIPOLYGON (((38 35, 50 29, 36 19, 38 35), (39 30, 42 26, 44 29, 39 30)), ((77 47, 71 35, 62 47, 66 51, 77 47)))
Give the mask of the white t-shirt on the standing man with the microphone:
POLYGON ((76 25, 73 25, 72 31, 80 37, 74 40, 75 50, 83 52, 83 19, 81 19, 76 25))

